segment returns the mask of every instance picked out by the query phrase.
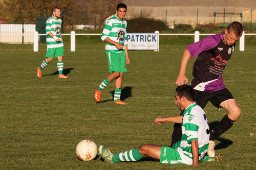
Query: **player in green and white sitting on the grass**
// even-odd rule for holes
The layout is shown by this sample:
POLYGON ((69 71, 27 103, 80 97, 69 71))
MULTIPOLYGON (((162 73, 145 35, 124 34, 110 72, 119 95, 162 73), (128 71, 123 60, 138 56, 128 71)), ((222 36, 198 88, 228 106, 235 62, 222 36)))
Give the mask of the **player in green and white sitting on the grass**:
POLYGON ((188 85, 178 86, 175 94, 175 104, 182 115, 172 117, 158 117, 155 123, 181 123, 182 138, 173 148, 159 145, 145 144, 138 149, 111 154, 102 145, 99 147, 100 156, 105 162, 138 161, 144 156, 160 160, 160 163, 188 164, 198 166, 201 161, 219 161, 221 156, 205 156, 209 143, 209 123, 203 109, 195 102, 195 92, 188 85))

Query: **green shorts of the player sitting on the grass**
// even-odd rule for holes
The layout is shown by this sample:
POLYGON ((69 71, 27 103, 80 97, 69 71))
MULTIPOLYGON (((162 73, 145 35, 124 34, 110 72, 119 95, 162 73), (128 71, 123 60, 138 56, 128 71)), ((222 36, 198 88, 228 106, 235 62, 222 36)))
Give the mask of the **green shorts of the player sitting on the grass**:
POLYGON ((161 148, 160 163, 184 164, 182 162, 183 161, 177 149, 170 147, 161 148))

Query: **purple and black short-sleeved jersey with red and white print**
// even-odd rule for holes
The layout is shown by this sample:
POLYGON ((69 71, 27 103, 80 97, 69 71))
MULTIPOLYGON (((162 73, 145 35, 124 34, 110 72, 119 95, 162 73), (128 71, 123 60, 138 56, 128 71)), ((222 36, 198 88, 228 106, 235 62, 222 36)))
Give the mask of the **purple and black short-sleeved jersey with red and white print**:
POLYGON ((210 35, 205 39, 186 46, 191 58, 198 58, 193 66, 191 87, 199 91, 218 91, 226 88, 222 73, 231 58, 236 44, 226 45, 221 34, 210 35))

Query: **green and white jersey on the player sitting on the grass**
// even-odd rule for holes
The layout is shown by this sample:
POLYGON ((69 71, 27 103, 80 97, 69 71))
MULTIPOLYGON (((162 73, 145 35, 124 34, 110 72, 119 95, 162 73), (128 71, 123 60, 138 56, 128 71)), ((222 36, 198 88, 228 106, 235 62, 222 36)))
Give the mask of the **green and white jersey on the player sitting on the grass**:
POLYGON ((193 164, 191 141, 198 140, 199 162, 201 162, 207 153, 210 137, 206 114, 200 106, 194 103, 188 106, 182 115, 182 135, 177 151, 186 164, 193 164))

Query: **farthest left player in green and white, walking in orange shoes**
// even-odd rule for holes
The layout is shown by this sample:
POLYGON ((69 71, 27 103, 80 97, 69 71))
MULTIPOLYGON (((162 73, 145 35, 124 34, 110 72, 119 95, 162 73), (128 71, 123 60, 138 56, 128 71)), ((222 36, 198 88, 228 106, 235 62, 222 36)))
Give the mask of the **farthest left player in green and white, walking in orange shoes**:
POLYGON ((60 9, 55 7, 52 9, 52 16, 46 21, 46 42, 47 42, 47 52, 46 59, 42 61, 40 67, 37 67, 37 76, 42 77, 42 69, 47 66, 53 57, 58 59, 57 66, 59 71, 59 78, 69 78, 62 74, 63 71, 63 42, 61 37, 61 19, 60 9))

